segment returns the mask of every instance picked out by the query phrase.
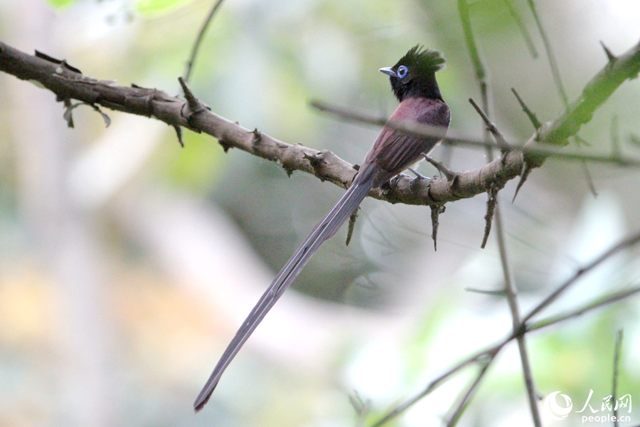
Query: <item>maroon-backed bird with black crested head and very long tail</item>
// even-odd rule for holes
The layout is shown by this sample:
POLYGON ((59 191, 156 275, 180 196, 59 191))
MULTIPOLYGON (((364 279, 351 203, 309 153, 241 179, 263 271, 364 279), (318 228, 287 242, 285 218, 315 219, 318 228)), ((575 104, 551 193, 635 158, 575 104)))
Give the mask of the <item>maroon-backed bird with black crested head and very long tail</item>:
MULTIPOLYGON (((389 76, 391 90, 400 102, 389 122, 430 125, 441 127, 446 132, 451 113, 447 103, 442 99, 435 78, 435 73, 444 68, 444 62, 441 52, 418 44, 410 48, 393 67, 380 68, 382 73, 389 76)), ((440 139, 441 137, 412 135, 389 124, 380 130, 351 186, 329 214, 311 230, 236 332, 193 403, 196 413, 206 405, 220 377, 240 351, 242 344, 289 288, 311 255, 324 241, 334 236, 338 228, 358 209, 371 189, 383 186, 393 176, 421 160, 423 154, 430 152, 440 139)))

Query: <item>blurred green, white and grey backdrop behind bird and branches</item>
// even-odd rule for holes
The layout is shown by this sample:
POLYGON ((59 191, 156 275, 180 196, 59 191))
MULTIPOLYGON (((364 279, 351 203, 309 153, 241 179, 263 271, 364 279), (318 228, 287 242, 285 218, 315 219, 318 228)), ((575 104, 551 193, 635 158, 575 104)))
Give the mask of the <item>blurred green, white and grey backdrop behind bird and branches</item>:
MULTIPOLYGON (((212 4, 0 0, 0 39, 93 78, 177 95, 212 4)), ((637 1, 535 5, 570 100, 605 65, 600 41, 622 53, 640 40, 637 1)), ((474 1, 471 23, 494 122, 509 141, 524 141, 533 128, 511 88, 540 120, 563 109, 528 1, 474 1)), ((438 80, 452 130, 481 137, 454 1, 226 0, 191 87, 240 125, 359 163, 378 129, 335 120, 309 101, 389 115, 396 101, 378 68, 416 43, 448 60, 438 80)), ((639 80, 624 83, 582 128, 585 152, 609 153, 617 138, 624 154, 640 156, 639 100, 639 80)), ((447 205, 435 253, 429 209, 366 200, 351 245, 346 230, 325 243, 194 416, 193 400, 235 330, 343 190, 299 172, 289 178, 245 152, 225 154, 208 135, 185 131, 181 148, 173 129, 145 117, 105 111, 105 128, 78 107, 70 129, 53 94, 11 75, 0 74, 0 112, 1 426, 354 426, 350 397, 373 421, 511 330, 506 300, 465 290, 503 286, 495 236, 479 248, 486 195, 447 205)), ((484 150, 462 147, 432 155, 456 170, 487 161, 484 150)), ((523 312, 640 227, 640 172, 588 169, 597 197, 580 163, 556 159, 530 174, 513 204, 516 183, 501 192, 523 312)), ((607 261, 538 318, 637 285, 638 254, 607 261)), ((529 334, 540 394, 561 391, 577 409, 592 390, 600 408, 624 328, 619 396, 640 399, 639 313, 636 297, 529 334)), ((461 371, 391 425, 441 425, 474 373, 461 371)), ((584 413, 555 421, 540 408, 545 426, 584 425, 584 413)), ((637 409, 628 415, 622 426, 640 422, 637 409)), ((530 419, 510 344, 460 425, 530 419)))

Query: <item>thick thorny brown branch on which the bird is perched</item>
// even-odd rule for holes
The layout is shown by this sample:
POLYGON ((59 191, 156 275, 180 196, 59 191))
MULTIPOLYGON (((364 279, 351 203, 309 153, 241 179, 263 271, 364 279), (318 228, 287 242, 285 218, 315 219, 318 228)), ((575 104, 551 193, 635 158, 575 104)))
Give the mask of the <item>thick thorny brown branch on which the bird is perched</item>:
MULTIPOLYGON (((0 70, 22 80, 33 80, 55 93, 58 100, 75 99, 89 105, 100 105, 112 110, 154 117, 173 127, 187 127, 195 132, 205 132, 217 138, 225 148, 238 148, 264 159, 282 164, 287 172, 299 170, 314 174, 324 181, 346 188, 351 184, 356 169, 327 150, 317 151, 300 144, 287 144, 215 115, 210 110, 188 112, 186 102, 161 90, 127 88, 112 81, 88 78, 77 70, 46 58, 28 55, 0 42, 0 70)), ((640 43, 617 57, 598 73, 585 87, 580 98, 570 105, 560 117, 533 135, 526 144, 540 148, 537 140, 545 144, 565 144, 567 137, 575 135, 580 125, 587 122, 597 107, 607 100, 627 78, 640 71, 640 43)), ((409 176, 401 176, 393 188, 370 192, 376 199, 391 203, 413 205, 444 204, 481 194, 494 186, 501 189, 511 179, 521 174, 523 166, 521 149, 513 149, 493 162, 474 171, 459 172, 457 178, 430 179, 414 182, 409 176)), ((539 167, 548 154, 526 154, 532 167, 539 167)), ((579 158, 575 154, 576 158, 579 158)), ((607 157, 601 156, 607 160, 607 157)), ((607 161, 612 161, 611 159, 607 161)), ((616 160, 619 163, 619 159, 616 160)))

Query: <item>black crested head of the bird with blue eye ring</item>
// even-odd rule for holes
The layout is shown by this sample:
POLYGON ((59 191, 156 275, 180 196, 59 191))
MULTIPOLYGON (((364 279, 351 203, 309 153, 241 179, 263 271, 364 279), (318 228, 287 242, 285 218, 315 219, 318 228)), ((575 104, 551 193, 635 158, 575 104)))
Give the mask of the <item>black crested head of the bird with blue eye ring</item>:
POLYGON ((444 57, 438 51, 413 46, 393 67, 380 68, 389 75, 391 90, 400 102, 407 97, 442 100, 435 73, 444 68, 444 57))

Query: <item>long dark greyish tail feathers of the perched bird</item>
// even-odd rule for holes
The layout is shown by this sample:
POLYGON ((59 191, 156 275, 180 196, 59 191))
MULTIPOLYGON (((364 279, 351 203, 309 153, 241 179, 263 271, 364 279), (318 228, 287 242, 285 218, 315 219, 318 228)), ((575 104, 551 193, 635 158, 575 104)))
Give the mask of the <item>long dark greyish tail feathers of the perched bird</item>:
POLYGON ((289 288, 289 285, 291 285, 304 265, 309 261, 311 255, 318 250, 324 241, 334 236, 338 228, 358 209, 361 201, 363 201, 371 189, 376 172, 377 167, 373 164, 361 168, 358 176, 353 180, 353 184, 351 184, 344 196, 342 196, 336 206, 334 206, 334 209, 331 209, 329 214, 315 226, 304 243, 302 243, 302 246, 289 258, 287 264, 280 270, 270 287, 262 297, 260 297, 255 307, 253 307, 253 310, 251 310, 245 322, 242 323, 238 332, 235 333, 235 337, 233 337, 222 357, 220 357, 218 364, 215 365, 215 369, 213 369, 207 383, 193 403, 193 408, 196 412, 205 406, 213 393, 213 389, 218 385, 220 376, 222 376, 231 360, 233 360, 235 354, 238 353, 242 344, 245 344, 247 338, 249 338, 257 325, 260 324, 267 312, 269 312, 279 297, 282 296, 284 291, 289 288))

